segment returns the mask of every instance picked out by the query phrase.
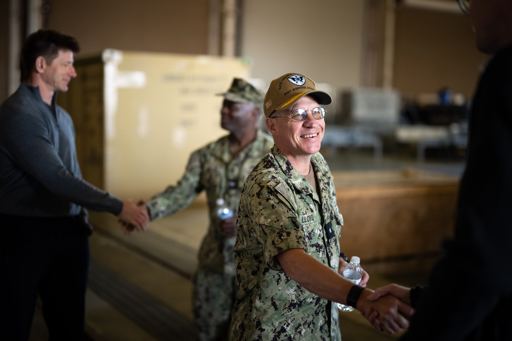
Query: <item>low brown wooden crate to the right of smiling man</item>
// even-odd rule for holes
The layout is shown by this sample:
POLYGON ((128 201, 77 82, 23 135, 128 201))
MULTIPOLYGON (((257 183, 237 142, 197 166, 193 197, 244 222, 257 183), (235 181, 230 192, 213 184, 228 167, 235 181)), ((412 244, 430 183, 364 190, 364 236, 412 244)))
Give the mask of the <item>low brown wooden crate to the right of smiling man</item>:
POLYGON ((365 269, 429 271, 453 235, 459 178, 406 169, 334 173, 340 244, 365 269))

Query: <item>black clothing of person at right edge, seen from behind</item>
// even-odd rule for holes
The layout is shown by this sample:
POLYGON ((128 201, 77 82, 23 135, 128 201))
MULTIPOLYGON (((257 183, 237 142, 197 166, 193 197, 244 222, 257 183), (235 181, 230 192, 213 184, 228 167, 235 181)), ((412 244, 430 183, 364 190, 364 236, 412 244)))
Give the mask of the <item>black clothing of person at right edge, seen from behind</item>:
POLYGON ((455 237, 445 243, 402 341, 512 339, 510 94, 512 49, 495 56, 480 80, 455 237))

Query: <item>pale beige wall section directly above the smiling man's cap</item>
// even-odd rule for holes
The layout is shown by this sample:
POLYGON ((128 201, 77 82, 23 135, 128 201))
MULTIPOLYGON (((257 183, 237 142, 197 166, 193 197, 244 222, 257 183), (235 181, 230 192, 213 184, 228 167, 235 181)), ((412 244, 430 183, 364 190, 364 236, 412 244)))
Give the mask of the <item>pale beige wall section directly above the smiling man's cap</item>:
POLYGON ((364 1, 259 0, 244 3, 242 54, 253 77, 303 73, 334 87, 360 83, 364 1))

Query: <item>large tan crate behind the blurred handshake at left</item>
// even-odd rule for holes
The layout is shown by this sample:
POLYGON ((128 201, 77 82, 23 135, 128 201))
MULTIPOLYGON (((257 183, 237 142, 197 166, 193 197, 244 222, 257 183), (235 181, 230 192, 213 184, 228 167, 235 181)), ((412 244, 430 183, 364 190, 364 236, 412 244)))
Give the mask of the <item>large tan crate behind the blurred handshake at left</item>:
POLYGON ((176 183, 192 151, 227 133, 216 94, 250 72, 238 58, 117 50, 75 66, 58 103, 75 123, 83 177, 134 200, 176 183))

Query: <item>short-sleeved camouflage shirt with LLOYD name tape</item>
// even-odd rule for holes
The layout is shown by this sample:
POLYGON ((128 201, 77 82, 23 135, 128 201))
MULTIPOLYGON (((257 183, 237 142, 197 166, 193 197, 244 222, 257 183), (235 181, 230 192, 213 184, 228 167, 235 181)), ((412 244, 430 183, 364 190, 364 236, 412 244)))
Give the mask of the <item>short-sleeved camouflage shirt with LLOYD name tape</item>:
POLYGON ((321 196, 274 146, 249 174, 234 247, 238 296, 232 340, 340 340, 331 302, 286 276, 276 255, 303 248, 337 271, 343 218, 324 157, 311 157, 321 196))

